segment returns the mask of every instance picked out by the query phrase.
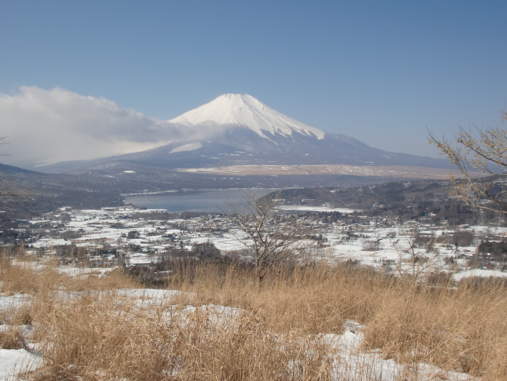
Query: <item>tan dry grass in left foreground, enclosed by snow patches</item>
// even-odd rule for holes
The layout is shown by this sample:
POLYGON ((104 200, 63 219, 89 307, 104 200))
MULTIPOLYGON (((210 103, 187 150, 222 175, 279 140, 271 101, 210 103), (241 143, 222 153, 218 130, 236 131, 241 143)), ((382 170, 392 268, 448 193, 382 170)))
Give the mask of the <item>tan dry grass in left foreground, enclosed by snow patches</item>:
POLYGON ((235 316, 230 328, 205 308, 145 311, 117 301, 114 294, 55 300, 36 332, 48 340, 45 372, 72 370, 89 380, 310 380, 302 375, 327 361, 307 353, 307 343, 281 345, 252 313, 235 316))

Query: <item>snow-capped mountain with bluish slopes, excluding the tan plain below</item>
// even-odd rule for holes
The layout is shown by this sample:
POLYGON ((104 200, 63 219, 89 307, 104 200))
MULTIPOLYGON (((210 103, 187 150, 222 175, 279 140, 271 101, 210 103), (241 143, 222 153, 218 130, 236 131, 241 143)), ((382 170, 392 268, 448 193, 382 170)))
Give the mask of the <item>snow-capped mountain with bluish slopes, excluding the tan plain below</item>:
POLYGON ((327 134, 247 94, 221 95, 168 122, 193 136, 124 159, 165 168, 272 163, 446 165, 437 159, 374 149, 342 134, 327 134))

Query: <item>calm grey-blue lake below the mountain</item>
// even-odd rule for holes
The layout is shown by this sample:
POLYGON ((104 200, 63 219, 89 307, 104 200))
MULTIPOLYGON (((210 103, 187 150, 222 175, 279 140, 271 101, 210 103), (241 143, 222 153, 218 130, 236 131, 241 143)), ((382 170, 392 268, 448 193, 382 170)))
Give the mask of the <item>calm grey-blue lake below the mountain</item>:
POLYGON ((151 195, 126 195, 125 203, 170 212, 220 213, 227 203, 242 204, 246 195, 261 197, 276 189, 222 189, 218 191, 178 191, 151 195))

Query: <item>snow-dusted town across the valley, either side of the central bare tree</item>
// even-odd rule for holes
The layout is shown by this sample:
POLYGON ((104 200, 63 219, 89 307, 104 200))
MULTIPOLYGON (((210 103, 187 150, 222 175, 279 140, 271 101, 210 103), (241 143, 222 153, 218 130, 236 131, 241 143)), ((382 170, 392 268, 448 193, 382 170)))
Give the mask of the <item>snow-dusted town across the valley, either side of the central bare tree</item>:
MULTIPOLYGON (((397 275, 507 276, 507 227, 430 225, 369 217, 328 205, 281 205, 308 243, 301 262, 349 263, 397 275)), ((222 213, 170 213, 132 205, 74 210, 60 208, 20 221, 17 242, 38 258, 56 257, 67 267, 145 267, 165 259, 249 262, 244 232, 222 213)), ((88 271, 89 271, 88 270, 88 271)))

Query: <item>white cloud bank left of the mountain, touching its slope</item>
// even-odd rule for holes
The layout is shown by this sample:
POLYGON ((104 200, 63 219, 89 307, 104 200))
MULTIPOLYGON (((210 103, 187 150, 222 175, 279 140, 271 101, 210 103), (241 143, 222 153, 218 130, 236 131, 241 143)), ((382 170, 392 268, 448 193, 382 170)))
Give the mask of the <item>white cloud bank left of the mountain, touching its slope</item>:
POLYGON ((0 94, 0 136, 10 141, 1 149, 11 154, 2 162, 26 168, 141 151, 191 133, 60 87, 21 87, 15 95, 0 94))

